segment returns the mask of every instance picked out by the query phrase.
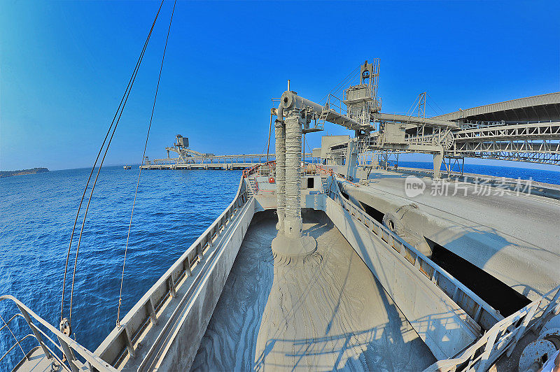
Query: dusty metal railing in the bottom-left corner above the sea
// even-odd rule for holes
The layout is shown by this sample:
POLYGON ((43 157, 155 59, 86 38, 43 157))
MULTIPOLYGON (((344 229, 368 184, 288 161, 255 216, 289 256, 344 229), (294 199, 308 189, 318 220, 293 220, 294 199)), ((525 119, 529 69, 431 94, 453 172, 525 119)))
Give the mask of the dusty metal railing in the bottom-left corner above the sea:
MULTIPOLYGON (((29 354, 35 348, 32 348, 31 350, 25 352, 21 344, 22 341, 25 341, 27 338, 35 338, 36 342, 38 343, 38 347, 43 351, 44 357, 49 359, 51 363, 55 363, 60 366, 65 371, 77 372, 81 370, 83 366, 86 366, 86 368, 90 371, 92 369, 97 369, 97 371, 116 372, 116 369, 114 369, 112 366, 94 355, 92 352, 90 352, 90 350, 87 350, 82 345, 78 344, 69 336, 62 334, 61 331, 53 327, 46 320, 43 320, 42 317, 36 315, 36 313, 30 310, 14 296, 0 296, 0 302, 2 301, 12 301, 13 303, 15 303, 15 306, 18 306, 20 313, 16 313, 12 317, 10 317, 8 322, 3 322, 3 326, 0 327, 0 331, 9 331, 15 339, 15 343, 13 343, 8 351, 2 357, 0 357, 0 362, 2 362, 2 360, 6 358, 12 350, 15 349, 16 345, 19 346, 19 349, 23 353, 23 359, 22 362, 20 362, 20 365, 21 363, 25 364, 25 362, 30 362, 29 354), (29 326, 29 329, 31 329, 31 334, 26 334, 22 338, 18 338, 18 336, 13 333, 12 329, 10 328, 10 323, 18 317, 22 317, 25 320, 25 322, 29 326), (45 330, 43 330, 42 328, 45 330), (56 338, 58 342, 54 341, 53 338, 56 338), (78 359, 78 357, 82 359, 83 362, 78 359)), ((34 362, 34 364, 36 364, 36 361, 34 362)))

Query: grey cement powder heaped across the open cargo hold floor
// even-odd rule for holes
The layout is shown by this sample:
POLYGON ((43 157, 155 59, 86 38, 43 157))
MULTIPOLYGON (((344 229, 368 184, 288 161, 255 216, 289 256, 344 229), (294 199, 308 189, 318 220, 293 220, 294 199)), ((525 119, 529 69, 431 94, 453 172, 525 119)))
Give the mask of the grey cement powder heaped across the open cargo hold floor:
POLYGON ((255 214, 193 371, 420 371, 435 362, 325 213, 306 210, 303 222, 318 248, 290 261, 272 255, 275 216, 255 214))

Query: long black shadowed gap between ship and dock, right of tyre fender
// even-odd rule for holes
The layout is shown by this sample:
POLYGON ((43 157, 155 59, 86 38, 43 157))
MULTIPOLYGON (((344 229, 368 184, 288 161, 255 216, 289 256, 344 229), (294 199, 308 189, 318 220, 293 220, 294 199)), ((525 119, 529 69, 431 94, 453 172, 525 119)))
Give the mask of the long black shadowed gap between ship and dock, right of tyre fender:
POLYGON ((512 315, 531 303, 523 294, 486 273, 475 264, 428 238, 426 241, 432 248, 433 253, 430 258, 433 262, 498 310, 503 317, 512 315))

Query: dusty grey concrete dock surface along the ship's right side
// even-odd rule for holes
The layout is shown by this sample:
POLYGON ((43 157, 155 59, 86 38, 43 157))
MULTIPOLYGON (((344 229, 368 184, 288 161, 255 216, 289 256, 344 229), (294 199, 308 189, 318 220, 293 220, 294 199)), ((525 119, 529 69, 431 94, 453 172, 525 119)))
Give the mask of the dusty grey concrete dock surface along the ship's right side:
POLYGON ((532 192, 517 195, 480 177, 479 185, 438 183, 376 170, 369 185, 339 185, 353 203, 396 217, 400 236, 426 256, 434 243, 441 245, 535 301, 560 284, 554 275, 559 203, 532 192), (415 182, 425 184, 424 192, 407 195, 415 182))

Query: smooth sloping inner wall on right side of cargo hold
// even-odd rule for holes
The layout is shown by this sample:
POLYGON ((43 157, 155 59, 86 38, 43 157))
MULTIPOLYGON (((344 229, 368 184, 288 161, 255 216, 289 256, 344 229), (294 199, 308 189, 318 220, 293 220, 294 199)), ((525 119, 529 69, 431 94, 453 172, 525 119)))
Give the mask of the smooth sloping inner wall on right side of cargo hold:
POLYGON ((351 215, 330 198, 326 199, 325 211, 437 359, 453 357, 476 340, 477 330, 464 310, 402 255, 388 250, 381 238, 363 224, 354 223, 351 215))

